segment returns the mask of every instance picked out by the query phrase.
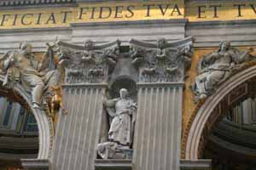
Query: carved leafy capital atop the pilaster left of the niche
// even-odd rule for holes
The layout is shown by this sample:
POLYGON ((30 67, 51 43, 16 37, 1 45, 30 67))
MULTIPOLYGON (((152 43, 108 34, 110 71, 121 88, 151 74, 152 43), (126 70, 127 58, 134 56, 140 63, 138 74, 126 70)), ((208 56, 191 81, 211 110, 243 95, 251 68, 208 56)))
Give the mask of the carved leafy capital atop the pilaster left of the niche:
POLYGON ((88 40, 84 46, 57 42, 60 62, 66 67, 67 83, 107 82, 108 72, 117 63, 119 40, 96 46, 88 40))

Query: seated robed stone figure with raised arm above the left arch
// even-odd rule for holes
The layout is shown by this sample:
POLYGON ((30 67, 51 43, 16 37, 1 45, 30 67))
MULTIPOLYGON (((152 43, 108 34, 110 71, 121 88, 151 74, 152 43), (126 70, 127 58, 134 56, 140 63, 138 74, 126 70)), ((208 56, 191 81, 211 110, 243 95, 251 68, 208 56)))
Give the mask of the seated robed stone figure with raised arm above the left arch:
POLYGON ((60 86, 61 66, 55 62, 55 43, 47 43, 47 51, 40 62, 32 53, 32 45, 20 44, 19 50, 10 51, 1 57, 1 67, 6 71, 3 86, 12 88, 19 82, 32 96, 33 109, 49 109, 47 99, 53 95, 51 87, 60 86))

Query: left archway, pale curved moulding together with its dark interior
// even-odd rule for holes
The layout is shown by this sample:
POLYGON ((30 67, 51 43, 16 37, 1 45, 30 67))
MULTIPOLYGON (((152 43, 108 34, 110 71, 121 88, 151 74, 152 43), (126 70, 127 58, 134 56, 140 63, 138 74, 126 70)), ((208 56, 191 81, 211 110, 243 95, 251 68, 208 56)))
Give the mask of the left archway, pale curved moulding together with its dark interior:
MULTIPOLYGON (((3 134, 4 130, 0 125, 0 135, 1 139, 4 139, 5 137, 7 140, 6 142, 11 140, 12 144, 10 145, 17 144, 17 150, 15 150, 15 148, 8 148, 10 146, 8 144, 6 145, 5 150, 3 150, 3 148, 1 149, 3 145, 1 146, 0 141, 0 160, 1 152, 4 153, 4 151, 6 152, 4 154, 8 154, 7 152, 9 152, 9 154, 20 153, 20 155, 15 157, 15 161, 9 161, 9 159, 7 159, 3 162, 2 160, 1 163, 3 162, 3 164, 0 164, 0 167, 6 167, 9 164, 15 165, 17 160, 21 159, 49 159, 53 142, 53 126, 51 119, 46 116, 45 111, 32 109, 32 103, 29 94, 27 94, 19 84, 17 84, 13 89, 4 88, 2 86, 3 80, 4 77, 0 76, 0 100, 3 100, 0 103, 0 109, 3 109, 1 110, 1 116, 3 116, 3 127, 9 127, 10 129, 13 128, 13 131, 7 129, 8 132, 3 134), (3 104, 3 102, 5 102, 5 104, 3 104), (2 104, 3 108, 1 107, 2 104), (7 139, 6 136, 12 138, 15 137, 15 139, 7 139), (28 137, 31 137, 31 139, 28 139, 28 137), (22 147, 22 144, 28 144, 27 148, 26 146, 25 148, 19 148, 22 147)), ((6 155, 5 157, 7 158, 8 156, 6 155)), ((16 164, 16 167, 20 166, 19 163, 20 162, 16 164)))

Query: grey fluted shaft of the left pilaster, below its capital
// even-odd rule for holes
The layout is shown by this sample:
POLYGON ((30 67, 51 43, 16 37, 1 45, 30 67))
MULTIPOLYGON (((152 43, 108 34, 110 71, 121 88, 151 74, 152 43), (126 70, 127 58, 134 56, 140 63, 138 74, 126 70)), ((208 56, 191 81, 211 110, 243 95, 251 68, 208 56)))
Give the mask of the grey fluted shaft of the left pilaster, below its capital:
POLYGON ((100 85, 64 87, 67 116, 61 115, 55 133, 55 170, 93 170, 102 116, 100 85))

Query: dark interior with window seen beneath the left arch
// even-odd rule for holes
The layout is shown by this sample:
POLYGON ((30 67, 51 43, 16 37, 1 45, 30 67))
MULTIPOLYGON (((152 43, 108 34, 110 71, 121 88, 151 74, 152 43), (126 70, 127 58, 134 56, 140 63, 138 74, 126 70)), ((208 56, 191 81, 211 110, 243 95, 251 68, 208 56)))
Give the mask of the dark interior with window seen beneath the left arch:
POLYGON ((0 169, 18 169, 21 159, 38 156, 38 123, 25 107, 0 94, 0 169))

